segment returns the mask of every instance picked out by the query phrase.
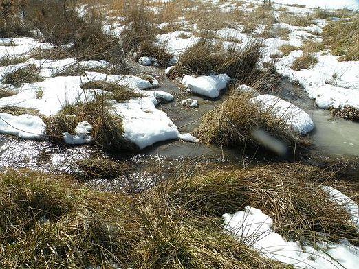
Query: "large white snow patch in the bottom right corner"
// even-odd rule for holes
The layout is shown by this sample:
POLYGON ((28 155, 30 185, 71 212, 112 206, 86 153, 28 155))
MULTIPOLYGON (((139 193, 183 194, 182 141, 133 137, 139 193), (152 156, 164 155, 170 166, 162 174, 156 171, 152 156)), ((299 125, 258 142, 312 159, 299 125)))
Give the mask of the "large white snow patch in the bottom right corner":
POLYGON ((357 268, 359 248, 346 244, 323 242, 312 246, 301 246, 298 242, 287 242, 273 230, 273 220, 261 210, 245 207, 233 215, 224 214, 225 229, 240 242, 258 250, 261 256, 292 264, 294 268, 337 269, 357 268))

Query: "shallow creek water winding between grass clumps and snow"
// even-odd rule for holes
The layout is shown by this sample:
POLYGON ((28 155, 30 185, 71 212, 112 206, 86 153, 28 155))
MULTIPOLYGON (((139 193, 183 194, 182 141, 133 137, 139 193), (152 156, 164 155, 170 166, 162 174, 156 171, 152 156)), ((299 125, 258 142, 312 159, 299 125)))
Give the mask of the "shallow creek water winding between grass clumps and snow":
MULTIPOLYGON (((206 100, 199 96, 192 96, 177 88, 176 84, 163 76, 159 78, 159 91, 171 93, 175 100, 161 104, 164 110, 180 128, 180 132, 191 132, 200 124, 200 117, 215 106, 223 102, 206 100), (195 98, 199 102, 198 108, 184 108, 181 101, 185 98, 195 98)), ((309 155, 327 157, 356 157, 359 156, 359 124, 343 119, 331 119, 327 110, 316 108, 312 100, 298 86, 287 80, 281 80, 278 89, 273 93, 283 99, 296 104, 309 113, 314 119, 316 130, 310 134, 312 147, 309 155)), ((14 137, 0 135, 0 169, 3 167, 30 168, 43 172, 78 173, 76 161, 89 157, 105 157, 116 161, 124 161, 133 167, 131 173, 116 180, 91 180, 88 184, 96 185, 100 189, 118 191, 128 186, 128 182, 135 190, 140 190, 155 182, 153 169, 161 167, 162 171, 176 169, 185 161, 194 164, 241 165, 246 167, 254 163, 269 163, 278 161, 273 154, 256 152, 250 149, 218 148, 183 141, 165 141, 156 143, 141 152, 129 154, 107 154, 93 146, 63 147, 54 145, 50 141, 26 141, 14 137)))

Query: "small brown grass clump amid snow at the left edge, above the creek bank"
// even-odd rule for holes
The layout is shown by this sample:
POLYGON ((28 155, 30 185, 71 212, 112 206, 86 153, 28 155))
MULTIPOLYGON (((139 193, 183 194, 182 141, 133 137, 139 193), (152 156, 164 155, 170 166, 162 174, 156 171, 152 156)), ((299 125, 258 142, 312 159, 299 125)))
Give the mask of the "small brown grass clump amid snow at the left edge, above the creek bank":
POLYGON ((20 86, 22 83, 41 82, 43 78, 39 75, 36 65, 26 65, 3 76, 2 84, 20 86))

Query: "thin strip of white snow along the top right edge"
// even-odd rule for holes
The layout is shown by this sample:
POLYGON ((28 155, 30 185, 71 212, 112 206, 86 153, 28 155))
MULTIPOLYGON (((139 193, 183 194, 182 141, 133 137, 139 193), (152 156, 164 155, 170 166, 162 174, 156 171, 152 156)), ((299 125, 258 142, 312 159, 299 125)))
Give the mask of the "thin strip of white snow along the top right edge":
POLYGON ((282 4, 297 4, 305 5, 307 8, 331 8, 331 9, 340 9, 340 8, 350 8, 357 10, 359 8, 358 0, 274 0, 274 3, 282 4))

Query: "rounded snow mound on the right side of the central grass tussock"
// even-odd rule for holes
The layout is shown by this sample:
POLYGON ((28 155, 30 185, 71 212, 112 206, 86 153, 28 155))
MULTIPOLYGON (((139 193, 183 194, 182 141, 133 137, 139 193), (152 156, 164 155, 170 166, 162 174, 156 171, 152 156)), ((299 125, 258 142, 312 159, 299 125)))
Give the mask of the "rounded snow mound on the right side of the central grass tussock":
POLYGON ((263 109, 283 119, 292 130, 299 134, 305 135, 314 129, 314 122, 308 113, 279 97, 264 94, 253 97, 251 101, 261 104, 263 109))

